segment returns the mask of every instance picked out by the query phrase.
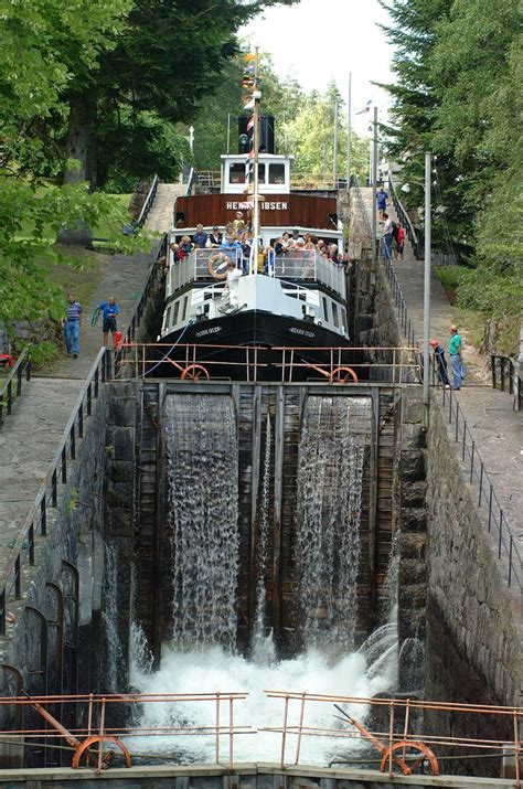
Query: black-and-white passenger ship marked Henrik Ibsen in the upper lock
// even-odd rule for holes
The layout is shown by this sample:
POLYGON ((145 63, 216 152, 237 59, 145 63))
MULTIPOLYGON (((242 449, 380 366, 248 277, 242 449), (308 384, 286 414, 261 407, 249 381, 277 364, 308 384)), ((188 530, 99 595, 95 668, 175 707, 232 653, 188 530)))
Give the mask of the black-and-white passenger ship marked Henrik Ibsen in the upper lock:
MULTIPOLYGON (((256 238, 259 247, 274 247, 285 232, 298 231, 303 238, 310 234, 325 244, 334 243, 343 253, 335 194, 292 190, 292 157, 274 152, 274 118, 263 116, 258 122, 254 192, 247 189, 249 159, 242 149, 246 136, 242 134, 245 118, 241 118, 239 152, 221 157, 220 191, 210 189, 177 200, 170 244, 179 244, 183 236, 192 238, 198 224, 206 233, 213 227, 224 233, 241 211, 253 218, 253 249, 256 238)), ((163 374, 175 375, 174 365, 193 378, 324 380, 333 369, 349 363, 343 266, 316 249, 301 248, 270 255, 260 273, 254 253, 245 260, 241 249, 222 252, 243 276, 230 281, 214 278, 211 266, 221 263, 217 248, 193 249, 179 262, 172 250, 168 253, 158 338, 168 362, 161 365, 163 374)))

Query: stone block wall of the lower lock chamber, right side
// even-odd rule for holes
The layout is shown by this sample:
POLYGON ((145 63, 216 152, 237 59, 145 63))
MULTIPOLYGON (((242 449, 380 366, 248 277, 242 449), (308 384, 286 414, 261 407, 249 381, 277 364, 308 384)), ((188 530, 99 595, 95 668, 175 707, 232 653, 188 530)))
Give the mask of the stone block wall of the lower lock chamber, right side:
MULTIPOLYGON (((460 469, 436 402, 427 440, 428 606, 426 694, 473 704, 520 704, 521 622, 500 574, 482 511, 460 469)), ((505 725, 457 715, 448 733, 506 737, 505 725)))

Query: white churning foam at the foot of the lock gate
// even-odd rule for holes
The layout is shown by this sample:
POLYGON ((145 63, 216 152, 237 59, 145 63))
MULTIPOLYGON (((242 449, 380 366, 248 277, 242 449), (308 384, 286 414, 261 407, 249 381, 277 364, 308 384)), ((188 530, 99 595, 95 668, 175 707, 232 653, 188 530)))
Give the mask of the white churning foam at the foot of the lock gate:
MULTIPOLYGON (((268 699, 265 691, 307 691, 334 695, 371 697, 375 693, 389 690, 394 680, 394 663, 383 665, 380 673, 372 671, 363 652, 354 652, 335 663, 325 654, 311 649, 292 660, 274 662, 268 665, 254 663, 241 655, 227 654, 221 647, 203 651, 179 651, 164 646, 161 669, 156 673, 140 671, 135 663, 131 682, 142 693, 248 693, 245 701, 234 704, 234 724, 252 726, 257 734, 234 737, 234 760, 278 761, 281 751, 281 735, 262 732, 264 727, 281 726, 284 702, 268 699)), ((364 721, 369 708, 361 704, 346 707, 359 721, 364 721)), ((299 723, 300 702, 291 701, 288 725, 299 723)), ((303 724, 322 728, 343 728, 337 718, 339 713, 332 703, 307 702, 303 724)), ((215 725, 215 702, 188 702, 180 704, 145 704, 139 721, 140 726, 204 727, 215 725)), ((228 725, 228 705, 223 703, 221 725, 228 725)), ((221 736, 221 760, 228 758, 228 737, 221 736)), ((134 753, 178 755, 183 763, 214 763, 215 737, 164 735, 160 737, 134 737, 128 743, 134 753)), ((286 759, 293 760, 297 738, 288 735, 286 759)), ((333 737, 302 738, 301 764, 328 765, 330 760, 356 755, 364 747, 359 739, 333 737)), ((173 757, 175 758, 175 757, 173 757)))

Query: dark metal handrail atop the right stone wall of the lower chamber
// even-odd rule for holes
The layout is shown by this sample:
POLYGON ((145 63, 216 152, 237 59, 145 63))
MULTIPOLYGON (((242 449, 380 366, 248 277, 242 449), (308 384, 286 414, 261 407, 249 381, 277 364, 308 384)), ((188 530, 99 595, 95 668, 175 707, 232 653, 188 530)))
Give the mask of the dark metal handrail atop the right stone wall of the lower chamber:
MULTIPOLYGON (((438 388, 440 388, 438 386, 438 388)), ((509 520, 495 494, 492 479, 487 471, 476 440, 467 425, 467 419, 461 411, 452 390, 440 388, 442 392, 442 412, 447 414, 449 425, 455 426, 455 441, 461 445, 461 461, 469 467, 469 482, 477 484, 478 507, 487 508, 489 534, 497 532, 498 558, 502 554, 509 566, 504 568, 509 586, 515 585, 520 593, 523 591, 523 555, 517 548, 517 539, 510 526, 509 520)), ((503 574, 503 573, 502 573, 503 574)))

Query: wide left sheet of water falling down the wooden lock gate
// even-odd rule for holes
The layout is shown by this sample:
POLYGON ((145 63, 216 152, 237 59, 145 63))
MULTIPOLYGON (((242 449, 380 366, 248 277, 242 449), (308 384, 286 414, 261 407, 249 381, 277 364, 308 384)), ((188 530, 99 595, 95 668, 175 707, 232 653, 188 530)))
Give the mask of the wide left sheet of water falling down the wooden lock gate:
POLYGON ((171 395, 166 404, 172 641, 236 643, 238 459, 233 402, 171 395))

